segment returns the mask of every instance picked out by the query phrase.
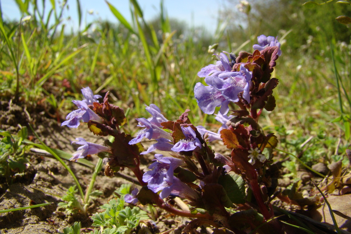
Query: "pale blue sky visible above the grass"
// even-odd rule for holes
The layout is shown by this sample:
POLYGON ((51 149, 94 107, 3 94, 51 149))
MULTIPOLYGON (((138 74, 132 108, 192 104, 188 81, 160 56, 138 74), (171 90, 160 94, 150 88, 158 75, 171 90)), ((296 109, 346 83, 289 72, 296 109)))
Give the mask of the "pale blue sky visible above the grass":
MULTIPOLYGON (((238 0, 239 1, 239 0, 238 0)), ((38 1, 41 5, 41 1, 38 1)), ((50 1, 46 0, 47 8, 51 7, 50 1)), ((119 12, 131 21, 128 0, 109 1, 119 12)), ((160 1, 158 0, 138 0, 144 12, 145 19, 150 20, 160 13, 160 1)), ((20 12, 15 0, 0 0, 4 19, 19 19, 20 12)), ((56 4, 58 1, 56 0, 56 4)), ((80 0, 83 13, 82 21, 89 23, 94 19, 109 20, 117 22, 115 16, 110 12, 107 4, 103 0, 80 0), (93 14, 89 14, 93 11, 93 14)), ((76 0, 68 0, 69 9, 65 11, 64 18, 71 17, 66 21, 68 27, 77 28, 78 14, 76 0)), ((166 12, 170 18, 185 21, 189 26, 205 26, 210 33, 214 33, 217 27, 217 17, 220 9, 227 6, 226 0, 164 0, 166 12)))

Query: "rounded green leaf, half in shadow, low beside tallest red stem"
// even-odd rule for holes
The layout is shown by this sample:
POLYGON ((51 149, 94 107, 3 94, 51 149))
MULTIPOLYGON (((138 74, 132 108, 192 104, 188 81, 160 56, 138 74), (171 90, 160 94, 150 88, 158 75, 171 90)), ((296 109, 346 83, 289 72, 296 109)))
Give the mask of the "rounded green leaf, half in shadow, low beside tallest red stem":
POLYGON ((240 175, 234 173, 225 174, 219 177, 218 183, 223 186, 233 203, 245 203, 245 181, 240 175))

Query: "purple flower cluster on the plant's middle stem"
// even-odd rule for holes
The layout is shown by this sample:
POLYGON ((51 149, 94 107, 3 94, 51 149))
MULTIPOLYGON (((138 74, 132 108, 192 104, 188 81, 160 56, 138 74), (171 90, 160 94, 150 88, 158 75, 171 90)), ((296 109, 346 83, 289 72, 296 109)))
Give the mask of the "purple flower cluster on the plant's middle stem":
MULTIPOLYGON (((201 142, 196 137, 196 132, 191 126, 183 127, 181 130, 184 134, 184 139, 179 140, 173 145, 173 138, 170 133, 161 129, 161 122, 167 122, 168 120, 160 113, 160 109, 151 104, 146 106, 146 110, 152 115, 151 118, 139 118, 139 127, 144 127, 143 130, 137 133, 137 136, 132 139, 129 144, 136 144, 140 142, 144 137, 148 139, 154 139, 157 142, 151 145, 147 151, 141 154, 150 153, 156 149, 160 151, 168 151, 178 153, 181 151, 200 151, 201 142)), ((148 168, 152 169, 144 173, 143 181, 148 183, 148 188, 153 192, 160 192, 160 198, 166 198, 170 194, 174 194, 182 197, 194 197, 196 193, 188 187, 185 183, 181 182, 177 177, 173 175, 174 169, 179 166, 185 166, 184 160, 166 157, 162 154, 155 154, 155 162, 153 162, 148 168)), ((128 195, 127 202, 135 201, 132 198, 133 193, 128 195)))

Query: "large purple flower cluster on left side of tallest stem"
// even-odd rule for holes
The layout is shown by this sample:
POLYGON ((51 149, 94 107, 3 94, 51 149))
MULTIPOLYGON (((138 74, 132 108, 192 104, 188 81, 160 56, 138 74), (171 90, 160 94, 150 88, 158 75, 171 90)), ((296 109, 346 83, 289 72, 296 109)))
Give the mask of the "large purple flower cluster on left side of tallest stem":
POLYGON ((239 72, 232 71, 229 59, 220 53, 220 61, 216 65, 208 65, 198 73, 205 77, 205 83, 197 83, 194 95, 200 109, 206 114, 213 114, 216 107, 221 106, 219 113, 225 115, 229 111, 230 102, 238 102, 238 94, 243 92, 243 99, 250 102, 250 81, 252 72, 244 65, 239 72))

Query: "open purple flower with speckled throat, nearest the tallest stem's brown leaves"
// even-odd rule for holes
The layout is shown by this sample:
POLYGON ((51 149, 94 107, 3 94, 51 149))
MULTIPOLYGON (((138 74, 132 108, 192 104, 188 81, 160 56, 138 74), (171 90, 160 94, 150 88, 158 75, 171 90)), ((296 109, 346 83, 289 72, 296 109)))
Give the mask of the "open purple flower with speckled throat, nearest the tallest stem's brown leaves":
POLYGON ((250 103, 250 80, 252 72, 241 64, 239 72, 225 72, 213 78, 213 85, 226 100, 238 102, 238 94, 243 92, 243 98, 250 103))

